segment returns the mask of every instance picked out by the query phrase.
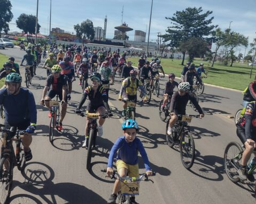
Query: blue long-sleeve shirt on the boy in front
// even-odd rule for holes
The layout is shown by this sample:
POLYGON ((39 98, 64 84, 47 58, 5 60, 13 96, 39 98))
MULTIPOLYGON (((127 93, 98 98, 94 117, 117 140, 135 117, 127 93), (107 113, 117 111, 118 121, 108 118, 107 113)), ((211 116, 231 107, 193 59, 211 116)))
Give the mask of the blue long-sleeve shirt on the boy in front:
POLYGON ((117 153, 116 159, 121 159, 123 162, 129 165, 135 165, 138 163, 138 151, 143 159, 145 164, 146 171, 150 171, 149 160, 147 153, 140 141, 139 138, 135 138, 132 142, 127 142, 125 137, 119 137, 113 147, 111 148, 109 158, 108 158, 108 167, 113 168, 114 156, 117 153), (118 151, 118 153, 117 153, 118 151))

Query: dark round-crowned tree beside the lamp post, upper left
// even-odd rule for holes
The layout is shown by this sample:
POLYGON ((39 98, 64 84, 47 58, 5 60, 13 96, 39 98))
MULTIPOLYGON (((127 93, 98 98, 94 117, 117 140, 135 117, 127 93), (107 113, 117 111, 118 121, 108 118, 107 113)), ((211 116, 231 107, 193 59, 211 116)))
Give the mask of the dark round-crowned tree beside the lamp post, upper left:
MULTIPOLYGON (((36 33, 36 16, 27 15, 25 13, 20 14, 19 18, 16 20, 17 27, 23 30, 26 34, 36 33)), ((37 24, 37 33, 39 32, 41 25, 37 24)), ((28 36, 27 36, 28 39, 28 36)))

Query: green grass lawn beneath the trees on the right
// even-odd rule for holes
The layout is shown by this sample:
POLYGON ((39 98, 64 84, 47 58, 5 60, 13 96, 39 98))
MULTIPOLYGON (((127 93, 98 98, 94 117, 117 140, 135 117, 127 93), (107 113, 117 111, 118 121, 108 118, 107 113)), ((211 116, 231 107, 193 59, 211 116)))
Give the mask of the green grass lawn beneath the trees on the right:
MULTIPOLYGON (((150 60, 151 58, 149 58, 150 60)), ((127 61, 132 61, 133 65, 137 66, 139 57, 131 57, 127 61)), ((247 66, 247 64, 233 63, 233 66, 230 67, 229 65, 224 66, 219 62, 215 62, 214 67, 211 67, 211 63, 201 61, 199 58, 196 58, 193 63, 195 63, 196 67, 200 63, 204 63, 204 68, 208 72, 208 78, 203 79, 205 83, 231 89, 244 90, 254 80, 256 74, 254 68, 252 70, 252 78, 250 79, 251 66, 247 66)), ((162 59, 161 64, 166 74, 174 73, 177 77, 180 77, 183 69, 181 60, 162 59)))

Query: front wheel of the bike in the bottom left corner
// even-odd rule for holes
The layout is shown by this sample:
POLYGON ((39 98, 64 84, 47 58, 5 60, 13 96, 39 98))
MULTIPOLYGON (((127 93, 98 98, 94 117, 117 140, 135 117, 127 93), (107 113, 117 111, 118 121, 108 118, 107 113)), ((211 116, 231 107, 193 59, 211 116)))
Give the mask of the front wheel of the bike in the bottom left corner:
MULTIPOLYGON (((6 173, 5 173, 6 175, 6 173)), ((0 203, 7 204, 8 199, 10 198, 11 189, 12 189, 12 179, 13 179, 13 164, 9 156, 3 156, 0 162, 0 203), (8 164, 9 168, 7 169, 7 176, 3 176, 4 164, 8 164)))

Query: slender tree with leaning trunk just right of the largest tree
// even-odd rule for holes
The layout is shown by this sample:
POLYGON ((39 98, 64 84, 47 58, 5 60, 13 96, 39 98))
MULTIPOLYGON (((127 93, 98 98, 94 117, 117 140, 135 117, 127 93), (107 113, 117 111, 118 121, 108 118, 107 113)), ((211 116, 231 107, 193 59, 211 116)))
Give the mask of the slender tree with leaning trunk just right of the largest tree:
POLYGON ((217 52, 218 52, 219 48, 228 43, 227 38, 228 38, 229 32, 230 32, 230 29, 226 29, 225 32, 223 32, 220 28, 217 28, 213 32, 213 37, 215 38, 214 41, 216 44, 216 48, 215 48, 215 54, 214 54, 213 61, 212 61, 212 66, 214 65, 215 58, 217 56, 217 52))

